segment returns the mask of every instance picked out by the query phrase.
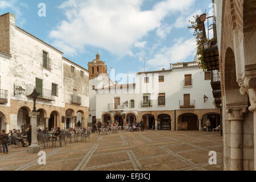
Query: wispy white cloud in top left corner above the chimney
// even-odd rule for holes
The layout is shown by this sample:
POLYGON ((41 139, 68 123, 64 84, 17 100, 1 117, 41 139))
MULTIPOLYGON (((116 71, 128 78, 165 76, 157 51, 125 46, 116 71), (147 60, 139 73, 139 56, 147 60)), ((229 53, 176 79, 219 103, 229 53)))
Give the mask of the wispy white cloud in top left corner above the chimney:
MULTIPOLYGON (((23 26, 26 22, 24 18, 22 18, 22 11, 18 7, 18 0, 8 0, 8 1, 0 1, 0 10, 13 11, 11 13, 15 14, 17 19, 18 26, 23 26)), ((21 3, 20 3, 21 4, 21 3)), ((7 12, 6 12, 7 13, 7 12)))

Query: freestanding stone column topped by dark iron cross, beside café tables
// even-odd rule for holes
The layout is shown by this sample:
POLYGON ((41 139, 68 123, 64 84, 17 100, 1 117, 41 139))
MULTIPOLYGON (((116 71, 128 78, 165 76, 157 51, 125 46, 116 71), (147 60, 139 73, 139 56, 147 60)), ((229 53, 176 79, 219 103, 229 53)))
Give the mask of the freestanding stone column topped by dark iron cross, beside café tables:
POLYGON ((40 146, 38 145, 38 134, 36 132, 37 118, 40 113, 29 113, 31 123, 31 145, 28 147, 28 152, 31 154, 38 153, 40 146))

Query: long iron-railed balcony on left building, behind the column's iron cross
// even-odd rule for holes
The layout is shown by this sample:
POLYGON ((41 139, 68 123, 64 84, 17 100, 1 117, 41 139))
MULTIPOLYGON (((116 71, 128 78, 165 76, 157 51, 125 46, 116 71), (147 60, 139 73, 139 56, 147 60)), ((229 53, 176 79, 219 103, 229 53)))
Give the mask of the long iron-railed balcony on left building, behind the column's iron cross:
POLYGON ((52 90, 43 89, 39 86, 35 87, 34 85, 26 85, 26 96, 31 97, 30 95, 32 94, 34 89, 36 89, 36 91, 40 93, 40 96, 38 96, 38 98, 48 101, 55 101, 55 96, 52 95, 52 90))

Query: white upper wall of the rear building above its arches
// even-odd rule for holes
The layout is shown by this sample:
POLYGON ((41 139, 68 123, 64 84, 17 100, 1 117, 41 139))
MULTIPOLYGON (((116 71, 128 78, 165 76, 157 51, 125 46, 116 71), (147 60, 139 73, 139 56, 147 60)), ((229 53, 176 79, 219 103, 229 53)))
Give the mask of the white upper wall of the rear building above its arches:
MULTIPOLYGON (((181 68, 172 69, 168 72, 159 72, 153 74, 147 74, 152 76, 151 80, 156 78, 159 89, 155 89, 157 92, 156 97, 152 98, 151 107, 142 107, 141 101, 143 100, 143 93, 150 93, 150 83, 144 83, 144 76, 137 75, 137 87, 135 90, 139 90, 139 93, 96 93, 96 118, 101 118, 101 114, 108 111, 108 104, 114 103, 114 97, 120 97, 120 102, 135 101, 135 108, 130 109, 125 107, 127 111, 160 111, 160 110, 177 110, 180 109, 179 101, 184 100, 183 94, 190 94, 191 100, 195 100, 194 109, 215 109, 213 105, 212 87, 210 86, 210 80, 205 80, 204 72, 199 67, 193 68, 181 68), (184 87, 184 75, 191 74, 193 79, 193 86, 184 87), (158 77, 164 76, 164 82, 158 82, 158 77), (140 78, 141 77, 141 78, 140 78), (141 81, 140 81, 141 80, 141 81), (139 88, 140 87, 140 88, 139 88), (158 93, 166 94, 166 106, 158 106, 158 93), (204 103, 204 95, 208 97, 208 101, 204 103)), ((113 114, 113 113, 112 113, 113 114)))

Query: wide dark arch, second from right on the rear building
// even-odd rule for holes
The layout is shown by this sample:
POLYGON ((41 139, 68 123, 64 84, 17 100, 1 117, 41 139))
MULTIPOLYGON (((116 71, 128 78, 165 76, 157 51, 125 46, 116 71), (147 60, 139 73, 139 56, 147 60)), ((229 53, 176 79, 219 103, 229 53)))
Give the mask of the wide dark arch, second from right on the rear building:
POLYGON ((195 113, 183 113, 177 117, 177 123, 188 123, 188 130, 198 131, 199 130, 199 120, 195 113))

